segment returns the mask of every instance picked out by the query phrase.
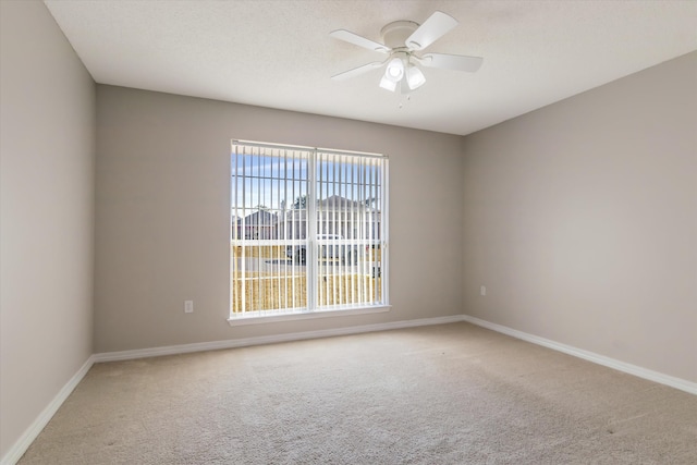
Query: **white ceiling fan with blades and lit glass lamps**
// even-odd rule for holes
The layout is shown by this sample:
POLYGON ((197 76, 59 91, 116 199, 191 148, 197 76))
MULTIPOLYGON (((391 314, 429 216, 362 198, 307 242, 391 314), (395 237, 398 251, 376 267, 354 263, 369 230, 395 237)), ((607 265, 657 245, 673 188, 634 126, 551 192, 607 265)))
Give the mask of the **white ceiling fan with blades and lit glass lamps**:
POLYGON ((474 73, 481 66, 484 59, 480 57, 420 53, 456 25, 457 20, 440 11, 420 25, 413 21, 395 21, 380 30, 384 45, 345 29, 333 30, 329 34, 331 37, 384 53, 388 58, 335 74, 331 78, 347 79, 387 64, 380 87, 395 91, 399 85, 402 94, 408 94, 426 83, 426 76, 418 65, 474 73))

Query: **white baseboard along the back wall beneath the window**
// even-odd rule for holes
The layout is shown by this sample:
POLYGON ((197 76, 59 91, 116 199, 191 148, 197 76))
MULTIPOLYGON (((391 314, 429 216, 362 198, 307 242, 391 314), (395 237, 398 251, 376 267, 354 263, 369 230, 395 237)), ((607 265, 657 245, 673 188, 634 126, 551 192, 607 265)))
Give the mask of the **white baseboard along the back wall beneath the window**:
POLYGON ((292 332, 285 334, 264 335, 256 338, 234 339, 225 341, 199 342, 193 344, 168 345, 162 347, 138 348, 134 351, 105 352, 95 354, 95 363, 130 360, 134 358, 157 357, 161 355, 186 354, 191 352, 217 351, 221 348, 246 347, 249 345, 274 344, 278 342, 302 341, 308 339, 330 338, 332 335, 358 334, 363 332, 387 331, 401 328, 413 328, 419 326, 443 325, 462 321, 461 315, 449 317, 421 318, 417 320, 394 321, 388 323, 376 323, 365 326, 354 326, 346 328, 326 329, 318 331, 292 332))

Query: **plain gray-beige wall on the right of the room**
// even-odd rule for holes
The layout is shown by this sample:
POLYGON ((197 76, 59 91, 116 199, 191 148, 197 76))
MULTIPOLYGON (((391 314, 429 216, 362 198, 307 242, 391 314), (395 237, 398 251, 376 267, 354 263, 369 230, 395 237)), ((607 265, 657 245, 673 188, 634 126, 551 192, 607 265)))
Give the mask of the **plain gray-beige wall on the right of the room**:
POLYGON ((464 313, 697 382, 697 52, 466 137, 462 181, 464 313))

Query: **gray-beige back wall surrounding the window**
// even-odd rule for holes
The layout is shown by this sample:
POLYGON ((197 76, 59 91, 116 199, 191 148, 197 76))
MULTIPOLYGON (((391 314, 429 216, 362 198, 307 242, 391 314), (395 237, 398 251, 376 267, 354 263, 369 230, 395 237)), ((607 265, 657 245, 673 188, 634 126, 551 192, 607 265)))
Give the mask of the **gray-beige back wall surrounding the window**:
POLYGON ((461 137, 103 85, 97 101, 96 352, 461 313, 461 137), (390 156, 390 313, 228 325, 232 138, 390 156))

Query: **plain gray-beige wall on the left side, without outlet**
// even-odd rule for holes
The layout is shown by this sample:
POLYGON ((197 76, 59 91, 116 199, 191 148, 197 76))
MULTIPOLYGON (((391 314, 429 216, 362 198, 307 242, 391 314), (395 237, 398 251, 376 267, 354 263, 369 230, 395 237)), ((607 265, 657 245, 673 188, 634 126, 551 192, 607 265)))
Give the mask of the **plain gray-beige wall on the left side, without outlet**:
POLYGON ((95 84, 41 2, 0 2, 0 456, 93 353, 95 84))

